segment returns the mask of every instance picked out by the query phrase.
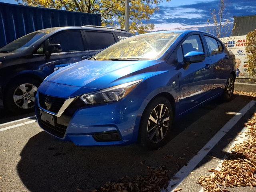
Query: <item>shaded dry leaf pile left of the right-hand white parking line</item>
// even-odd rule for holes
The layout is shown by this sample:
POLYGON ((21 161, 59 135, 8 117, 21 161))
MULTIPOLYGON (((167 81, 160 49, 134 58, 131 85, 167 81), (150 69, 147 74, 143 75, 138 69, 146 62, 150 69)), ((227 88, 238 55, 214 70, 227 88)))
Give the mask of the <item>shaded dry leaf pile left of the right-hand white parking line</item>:
POLYGON ((91 192, 160 192, 168 186, 168 173, 164 166, 156 169, 148 167, 148 174, 145 176, 123 177, 118 182, 108 182, 91 192))

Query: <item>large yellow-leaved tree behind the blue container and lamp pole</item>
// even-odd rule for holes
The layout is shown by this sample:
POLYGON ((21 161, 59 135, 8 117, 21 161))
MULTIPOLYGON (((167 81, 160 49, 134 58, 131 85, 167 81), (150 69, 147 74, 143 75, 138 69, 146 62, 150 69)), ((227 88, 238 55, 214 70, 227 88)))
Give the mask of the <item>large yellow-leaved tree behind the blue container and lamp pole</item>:
MULTIPOLYGON (((125 26, 124 0, 16 0, 20 4, 44 8, 54 8, 86 13, 99 13, 102 16, 102 25, 125 26)), ((166 0, 169 2, 170 0, 166 0)), ((145 33, 153 30, 154 24, 143 24, 158 10, 162 0, 130 0, 130 31, 145 33)))

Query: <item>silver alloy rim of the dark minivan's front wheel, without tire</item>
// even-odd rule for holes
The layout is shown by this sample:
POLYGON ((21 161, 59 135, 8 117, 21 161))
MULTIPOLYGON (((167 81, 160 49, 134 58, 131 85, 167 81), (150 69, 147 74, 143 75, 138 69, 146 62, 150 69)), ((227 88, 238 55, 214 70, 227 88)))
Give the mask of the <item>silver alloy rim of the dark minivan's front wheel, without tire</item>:
POLYGON ((25 83, 16 88, 13 94, 14 103, 22 108, 29 109, 35 106, 35 95, 37 87, 33 84, 25 83))

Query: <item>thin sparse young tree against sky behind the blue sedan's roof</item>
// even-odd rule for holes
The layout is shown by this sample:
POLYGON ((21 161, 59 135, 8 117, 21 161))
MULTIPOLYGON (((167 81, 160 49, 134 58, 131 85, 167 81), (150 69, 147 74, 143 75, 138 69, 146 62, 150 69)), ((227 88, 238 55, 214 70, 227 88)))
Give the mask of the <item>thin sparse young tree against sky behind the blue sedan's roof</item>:
MULTIPOLYGON (((215 35, 218 38, 225 37, 228 32, 232 30, 230 19, 226 18, 226 4, 225 0, 220 0, 218 10, 215 9, 211 12, 211 19, 207 20, 207 32, 215 35)), ((235 28, 234 25, 233 28, 235 28)))

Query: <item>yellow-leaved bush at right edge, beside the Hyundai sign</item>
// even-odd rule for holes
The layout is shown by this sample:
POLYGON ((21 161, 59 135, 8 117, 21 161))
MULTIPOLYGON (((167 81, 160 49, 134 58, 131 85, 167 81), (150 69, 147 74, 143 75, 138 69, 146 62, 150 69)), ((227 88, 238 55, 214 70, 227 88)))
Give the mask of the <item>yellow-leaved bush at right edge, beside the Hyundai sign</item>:
POLYGON ((256 30, 249 32, 246 36, 246 53, 248 73, 256 77, 256 30))

